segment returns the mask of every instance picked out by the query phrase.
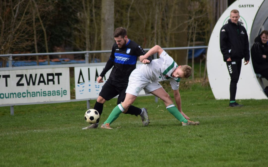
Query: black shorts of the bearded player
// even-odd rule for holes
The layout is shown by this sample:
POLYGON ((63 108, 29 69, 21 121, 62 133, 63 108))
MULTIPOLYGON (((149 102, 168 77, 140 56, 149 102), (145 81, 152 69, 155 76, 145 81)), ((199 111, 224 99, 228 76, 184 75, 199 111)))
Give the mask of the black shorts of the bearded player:
POLYGON ((105 82, 101 89, 101 92, 99 93, 99 96, 102 96, 102 98, 107 101, 117 95, 119 95, 117 98, 117 104, 124 102, 126 97, 126 87, 116 87, 109 82, 105 82))

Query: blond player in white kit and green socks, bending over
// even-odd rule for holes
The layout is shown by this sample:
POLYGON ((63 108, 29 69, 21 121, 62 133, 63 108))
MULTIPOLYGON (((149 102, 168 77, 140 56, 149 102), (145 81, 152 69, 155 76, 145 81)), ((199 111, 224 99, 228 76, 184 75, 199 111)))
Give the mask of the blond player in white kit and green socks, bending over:
POLYGON ((178 90, 180 78, 188 78, 192 73, 192 68, 188 65, 178 66, 172 57, 158 45, 152 47, 144 56, 140 56, 140 61, 144 64, 132 71, 129 77, 124 102, 118 104, 118 106, 113 109, 101 128, 112 129, 110 124, 118 118, 119 114, 128 110, 128 107, 134 103, 142 89, 144 89, 146 94, 151 93, 163 100, 167 110, 174 115, 183 126, 198 125, 200 122, 189 121, 189 117, 183 113, 181 109, 180 92, 178 90), (155 53, 158 53, 160 58, 152 60, 150 64, 146 64, 149 61, 147 57, 155 53), (158 81, 163 80, 170 81, 178 108, 174 105, 169 94, 158 83, 158 81))

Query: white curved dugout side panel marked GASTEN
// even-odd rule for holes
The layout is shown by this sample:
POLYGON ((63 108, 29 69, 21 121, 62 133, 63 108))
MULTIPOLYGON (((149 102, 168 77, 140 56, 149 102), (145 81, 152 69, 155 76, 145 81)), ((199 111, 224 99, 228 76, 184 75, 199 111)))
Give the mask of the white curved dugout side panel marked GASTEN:
MULTIPOLYGON (((207 50, 207 73, 212 92, 216 99, 230 98, 230 76, 226 62, 223 61, 219 45, 219 33, 221 27, 228 21, 230 11, 237 9, 240 14, 239 21, 243 22, 248 37, 250 37, 254 18, 262 5, 262 2, 263 0, 235 1, 224 11, 213 29, 207 50)), ((242 64, 239 81, 237 83, 236 99, 267 99, 267 96, 264 94, 256 79, 251 60, 247 65, 242 64)))

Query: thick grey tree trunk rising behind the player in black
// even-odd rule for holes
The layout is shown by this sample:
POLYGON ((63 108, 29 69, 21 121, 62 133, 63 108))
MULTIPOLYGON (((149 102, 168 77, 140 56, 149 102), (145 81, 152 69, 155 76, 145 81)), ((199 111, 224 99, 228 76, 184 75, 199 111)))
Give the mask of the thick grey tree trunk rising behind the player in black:
MULTIPOLYGON (((114 0, 102 0, 101 50, 111 50, 114 44, 114 0)), ((102 53, 101 62, 109 59, 110 53, 102 53)))

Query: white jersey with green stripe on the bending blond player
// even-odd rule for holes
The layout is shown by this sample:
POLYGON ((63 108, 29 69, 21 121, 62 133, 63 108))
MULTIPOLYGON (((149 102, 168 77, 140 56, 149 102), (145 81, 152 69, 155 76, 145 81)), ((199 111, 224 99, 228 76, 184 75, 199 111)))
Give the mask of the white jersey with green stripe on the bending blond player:
POLYGON ((172 72, 178 67, 177 63, 163 51, 159 59, 152 60, 150 64, 140 65, 140 72, 151 81, 169 80, 173 90, 179 88, 180 78, 172 77, 172 72))

